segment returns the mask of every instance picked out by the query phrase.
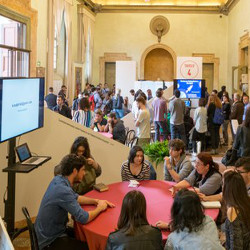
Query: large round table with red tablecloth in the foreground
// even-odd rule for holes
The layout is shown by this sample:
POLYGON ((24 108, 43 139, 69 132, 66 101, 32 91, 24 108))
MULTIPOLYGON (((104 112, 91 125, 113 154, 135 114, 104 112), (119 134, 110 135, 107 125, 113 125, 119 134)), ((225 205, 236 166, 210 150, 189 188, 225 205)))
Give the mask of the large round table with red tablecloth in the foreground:
MULTIPOLYGON (((141 181, 137 188, 129 188, 129 182, 118 182, 109 185, 109 190, 106 192, 98 192, 93 190, 86 196, 108 200, 115 204, 115 208, 108 208, 102 212, 95 220, 86 225, 75 223, 76 237, 79 240, 88 242, 90 250, 104 250, 110 232, 115 231, 118 218, 121 211, 122 200, 126 193, 131 190, 141 191, 147 201, 147 218, 149 224, 155 226, 158 220, 170 221, 170 210, 173 203, 173 198, 169 188, 175 183, 166 181, 141 181)), ((93 210, 94 207, 85 205, 83 208, 86 211, 93 210)), ((219 209, 205 209, 205 214, 216 220, 219 209)), ((169 231, 162 231, 164 243, 167 240, 169 231)))

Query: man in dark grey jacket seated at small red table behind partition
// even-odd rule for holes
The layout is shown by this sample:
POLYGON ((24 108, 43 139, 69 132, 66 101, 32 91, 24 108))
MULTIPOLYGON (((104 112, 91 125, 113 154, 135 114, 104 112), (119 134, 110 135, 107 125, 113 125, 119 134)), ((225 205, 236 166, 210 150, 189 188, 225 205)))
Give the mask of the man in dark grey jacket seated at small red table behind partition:
POLYGON ((104 131, 112 134, 114 140, 124 144, 126 137, 125 127, 123 121, 116 118, 115 113, 111 112, 108 114, 108 123, 104 131))

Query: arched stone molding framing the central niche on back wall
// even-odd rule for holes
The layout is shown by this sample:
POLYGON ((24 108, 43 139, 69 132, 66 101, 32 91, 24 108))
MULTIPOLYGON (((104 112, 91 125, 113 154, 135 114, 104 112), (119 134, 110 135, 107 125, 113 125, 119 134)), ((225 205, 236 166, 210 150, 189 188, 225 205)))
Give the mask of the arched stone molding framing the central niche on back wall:
POLYGON ((145 59, 147 57, 147 54, 154 49, 164 49, 170 53, 170 55, 172 56, 173 61, 174 61, 174 76, 173 76, 173 78, 175 78, 175 76, 176 76, 176 53, 169 46, 167 46, 165 44, 154 44, 154 45, 148 47, 142 53, 141 62, 140 62, 140 79, 144 79, 144 68, 145 68, 144 66, 145 66, 145 59))

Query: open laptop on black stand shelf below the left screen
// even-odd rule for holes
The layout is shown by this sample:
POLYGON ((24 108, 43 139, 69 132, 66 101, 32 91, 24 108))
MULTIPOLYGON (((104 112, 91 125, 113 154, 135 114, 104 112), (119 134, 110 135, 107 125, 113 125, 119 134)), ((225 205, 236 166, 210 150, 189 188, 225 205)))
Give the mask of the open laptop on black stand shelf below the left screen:
POLYGON ((20 164, 23 165, 38 165, 48 159, 47 156, 32 156, 27 143, 15 147, 15 150, 20 164))

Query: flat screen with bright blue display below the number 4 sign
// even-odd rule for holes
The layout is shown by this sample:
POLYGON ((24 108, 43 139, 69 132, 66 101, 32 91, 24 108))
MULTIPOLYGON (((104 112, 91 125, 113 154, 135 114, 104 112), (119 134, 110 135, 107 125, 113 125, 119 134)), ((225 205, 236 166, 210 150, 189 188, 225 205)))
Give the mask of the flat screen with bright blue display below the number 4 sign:
POLYGON ((179 89, 180 98, 199 99, 205 97, 205 80, 175 79, 174 90, 179 89))

